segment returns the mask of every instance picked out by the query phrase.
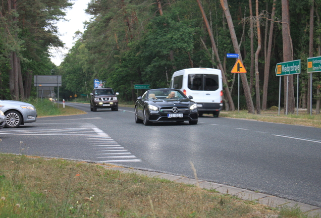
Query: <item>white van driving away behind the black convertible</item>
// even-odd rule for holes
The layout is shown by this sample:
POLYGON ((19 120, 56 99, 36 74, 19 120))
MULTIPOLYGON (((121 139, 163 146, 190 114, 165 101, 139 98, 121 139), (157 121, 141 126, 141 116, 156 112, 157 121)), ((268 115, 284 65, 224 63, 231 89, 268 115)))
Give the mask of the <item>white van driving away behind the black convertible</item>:
POLYGON ((219 117, 223 107, 222 72, 212 68, 189 68, 176 71, 171 88, 180 89, 185 95, 193 96, 197 103, 198 115, 213 114, 219 117))

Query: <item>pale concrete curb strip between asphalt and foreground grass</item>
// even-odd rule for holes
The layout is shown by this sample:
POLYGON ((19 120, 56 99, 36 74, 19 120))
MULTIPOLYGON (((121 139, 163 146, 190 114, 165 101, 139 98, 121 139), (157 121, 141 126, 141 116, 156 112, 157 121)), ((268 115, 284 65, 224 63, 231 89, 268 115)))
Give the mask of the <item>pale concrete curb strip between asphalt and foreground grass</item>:
POLYGON ((307 214, 309 217, 320 217, 321 218, 321 207, 312 206, 309 204, 304 204, 284 198, 279 198, 273 195, 267 195, 263 193, 258 193, 246 189, 236 188, 233 186, 222 185, 213 182, 207 182, 202 180, 190 179, 187 177, 174 176, 163 173, 156 173, 150 171, 136 170, 136 169, 128 169, 122 167, 110 167, 104 166, 105 169, 109 170, 117 170, 123 173, 135 173, 139 175, 144 175, 151 178, 160 178, 167 179, 173 182, 184 183, 189 185, 199 185, 200 188, 204 189, 215 189, 221 194, 230 194, 233 196, 237 196, 243 200, 257 201, 260 204, 270 206, 270 207, 298 207, 302 212, 307 214))

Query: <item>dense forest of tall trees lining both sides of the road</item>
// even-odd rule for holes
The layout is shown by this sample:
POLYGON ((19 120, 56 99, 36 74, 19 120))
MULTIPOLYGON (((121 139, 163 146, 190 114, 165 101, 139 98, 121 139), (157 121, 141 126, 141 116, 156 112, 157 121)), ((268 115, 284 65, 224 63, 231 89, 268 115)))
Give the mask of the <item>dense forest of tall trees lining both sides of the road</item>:
MULTIPOLYGON (((78 0, 80 1, 80 0, 78 0)), ((62 75, 61 98, 88 95, 93 80, 134 102, 145 90, 169 87, 172 74, 186 68, 223 72, 224 108, 234 111, 237 76, 231 70, 239 53, 247 73, 240 74, 240 109, 260 114, 278 105, 277 63, 301 60, 301 74, 282 76, 281 102, 319 113, 321 73, 312 74, 307 58, 321 56, 321 0, 92 0, 92 19, 60 66, 50 61, 50 47, 64 46, 55 26, 70 0, 0 1, 0 98, 37 96, 33 75, 62 75), (286 88, 287 77, 289 79, 286 88), (288 92, 288 94, 287 94, 288 92)))

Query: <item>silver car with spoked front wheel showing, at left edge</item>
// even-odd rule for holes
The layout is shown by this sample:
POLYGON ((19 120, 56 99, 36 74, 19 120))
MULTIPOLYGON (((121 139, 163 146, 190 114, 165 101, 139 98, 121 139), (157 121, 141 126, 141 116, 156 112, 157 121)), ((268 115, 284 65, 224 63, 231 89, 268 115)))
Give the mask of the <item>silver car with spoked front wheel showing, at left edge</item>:
POLYGON ((0 110, 7 117, 5 126, 16 128, 25 123, 36 122, 37 110, 30 103, 13 100, 0 100, 0 110))

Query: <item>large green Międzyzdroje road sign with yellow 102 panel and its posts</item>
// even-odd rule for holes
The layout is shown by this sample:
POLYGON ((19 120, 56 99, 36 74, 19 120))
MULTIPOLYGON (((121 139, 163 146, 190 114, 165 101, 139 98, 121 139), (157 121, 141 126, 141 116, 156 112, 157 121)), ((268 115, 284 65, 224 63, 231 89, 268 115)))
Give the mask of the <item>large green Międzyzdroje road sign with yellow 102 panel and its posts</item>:
MULTIPOLYGON (((289 75, 297 74, 297 93, 296 93, 296 114, 299 112, 299 74, 301 73, 301 60, 289 61, 278 63, 275 68, 275 73, 277 76, 287 76, 287 97, 286 97, 286 115, 288 115, 288 83, 289 75)), ((280 77, 280 87, 279 87, 279 116, 280 116, 280 97, 281 97, 281 77, 280 77)))

